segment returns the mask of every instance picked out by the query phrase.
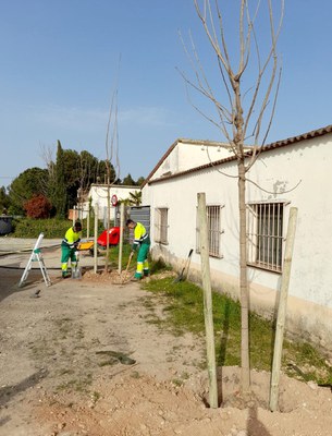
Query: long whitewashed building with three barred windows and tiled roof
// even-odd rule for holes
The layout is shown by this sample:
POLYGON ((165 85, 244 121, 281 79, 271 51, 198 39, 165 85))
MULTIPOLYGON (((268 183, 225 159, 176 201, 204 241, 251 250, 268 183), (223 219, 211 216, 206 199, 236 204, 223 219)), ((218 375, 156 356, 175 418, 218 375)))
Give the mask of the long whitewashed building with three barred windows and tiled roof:
MULTIPOLYGON (((332 125, 262 148, 247 173, 250 310, 275 315, 291 207, 298 209, 286 328, 332 351, 332 125), (254 244, 255 243, 255 244, 254 244)), ((143 186, 151 253, 200 281, 197 193, 205 192, 213 289, 238 298, 237 161, 224 144, 176 141, 143 186), (220 148, 219 148, 220 145, 220 148), (220 152, 218 152, 218 149, 220 152), (218 159, 218 154, 220 158, 218 159)))

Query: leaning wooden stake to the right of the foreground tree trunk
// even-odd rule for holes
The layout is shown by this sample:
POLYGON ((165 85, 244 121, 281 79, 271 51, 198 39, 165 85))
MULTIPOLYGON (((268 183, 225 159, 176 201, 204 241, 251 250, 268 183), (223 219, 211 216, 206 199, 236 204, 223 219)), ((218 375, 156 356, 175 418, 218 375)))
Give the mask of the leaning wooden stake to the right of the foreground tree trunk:
POLYGON ((276 328, 275 328, 275 341, 274 341, 272 375, 271 375, 271 389, 270 389, 270 410, 271 410, 271 412, 275 412, 275 410, 278 408, 282 346, 283 346, 284 328, 285 328, 285 319, 286 319, 288 284, 290 284, 290 278, 291 278, 293 247, 294 247, 295 231, 296 231, 296 219, 297 219, 297 208, 291 207, 287 238, 286 238, 286 245, 285 245, 284 264, 283 264, 283 274, 282 274, 282 278, 281 278, 281 290, 280 290, 280 300, 279 300, 279 308, 278 308, 278 317, 276 317, 276 328))

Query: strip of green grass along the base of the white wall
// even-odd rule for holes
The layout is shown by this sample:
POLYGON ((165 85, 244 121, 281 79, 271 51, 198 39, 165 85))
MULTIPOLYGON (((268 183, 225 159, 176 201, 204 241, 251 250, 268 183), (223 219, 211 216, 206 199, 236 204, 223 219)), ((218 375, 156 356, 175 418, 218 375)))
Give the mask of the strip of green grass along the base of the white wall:
MULTIPOLYGON (((188 281, 174 282, 174 278, 143 283, 163 305, 163 316, 153 314, 153 324, 174 335, 189 331, 204 337, 202 290, 188 281)), ((151 301, 149 302, 149 310, 151 301)), ((217 364, 241 365, 241 305, 231 298, 212 292, 212 313, 217 364)), ((254 313, 249 314, 250 367, 271 371, 274 347, 274 325, 254 313)), ((282 370, 299 379, 318 384, 332 383, 332 368, 325 358, 311 344, 284 340, 282 370)))

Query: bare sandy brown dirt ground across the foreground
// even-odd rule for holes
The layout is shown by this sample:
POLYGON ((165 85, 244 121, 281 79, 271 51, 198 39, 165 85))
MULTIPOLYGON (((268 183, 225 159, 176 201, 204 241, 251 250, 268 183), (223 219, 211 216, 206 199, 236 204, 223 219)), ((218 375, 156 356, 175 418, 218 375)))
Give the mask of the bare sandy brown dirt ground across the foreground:
POLYGON ((21 275, 0 268, 1 436, 331 436, 331 390, 285 376, 271 413, 268 373, 244 404, 238 368, 219 368, 208 408, 202 339, 161 331, 139 283, 51 271, 46 287, 32 270, 19 288, 21 275))

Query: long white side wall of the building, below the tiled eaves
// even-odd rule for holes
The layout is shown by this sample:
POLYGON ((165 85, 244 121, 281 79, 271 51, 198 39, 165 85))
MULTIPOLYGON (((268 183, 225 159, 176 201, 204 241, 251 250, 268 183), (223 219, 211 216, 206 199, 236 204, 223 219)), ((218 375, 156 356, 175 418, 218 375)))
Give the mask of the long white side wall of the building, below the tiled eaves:
MULTIPOLYGON (((291 207, 298 208, 288 299, 288 329, 319 341, 332 350, 332 135, 303 141, 260 155, 247 178, 247 202, 285 201, 284 235, 291 207), (280 192, 276 195, 275 192, 280 192)), ((210 257, 213 287, 238 295, 238 211, 236 161, 219 168, 146 185, 143 203, 151 206, 151 241, 155 256, 182 267, 190 249, 192 275, 199 280, 200 256, 196 246, 197 193, 207 204, 222 208, 221 259, 210 257), (156 207, 169 208, 169 244, 153 243, 156 207)), ((250 305, 274 314, 281 275, 249 268, 250 305)))

